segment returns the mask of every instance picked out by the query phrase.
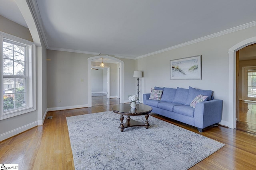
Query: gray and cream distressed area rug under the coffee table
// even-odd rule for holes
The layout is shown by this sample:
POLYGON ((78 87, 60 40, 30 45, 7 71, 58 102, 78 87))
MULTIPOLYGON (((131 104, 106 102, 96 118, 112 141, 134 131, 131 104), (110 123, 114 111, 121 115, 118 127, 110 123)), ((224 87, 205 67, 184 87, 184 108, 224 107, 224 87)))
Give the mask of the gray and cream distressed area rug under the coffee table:
POLYGON ((76 170, 186 170, 224 147, 152 116, 148 129, 120 132, 119 117, 112 111, 67 117, 76 170))

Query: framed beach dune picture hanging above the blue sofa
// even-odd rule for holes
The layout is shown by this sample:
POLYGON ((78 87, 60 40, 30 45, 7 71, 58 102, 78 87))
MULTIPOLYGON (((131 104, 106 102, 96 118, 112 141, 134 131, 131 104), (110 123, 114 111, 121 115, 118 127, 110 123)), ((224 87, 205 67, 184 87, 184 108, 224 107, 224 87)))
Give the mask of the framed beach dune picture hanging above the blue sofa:
POLYGON ((170 60, 170 79, 202 79, 202 55, 170 60))

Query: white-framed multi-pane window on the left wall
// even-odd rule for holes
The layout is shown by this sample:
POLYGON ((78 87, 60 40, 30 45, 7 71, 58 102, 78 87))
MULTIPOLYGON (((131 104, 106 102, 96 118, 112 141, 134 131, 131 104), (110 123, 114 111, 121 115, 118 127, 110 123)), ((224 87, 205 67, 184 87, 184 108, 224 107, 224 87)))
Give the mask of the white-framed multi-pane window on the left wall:
POLYGON ((36 109, 34 48, 30 41, 0 32, 0 120, 36 109))

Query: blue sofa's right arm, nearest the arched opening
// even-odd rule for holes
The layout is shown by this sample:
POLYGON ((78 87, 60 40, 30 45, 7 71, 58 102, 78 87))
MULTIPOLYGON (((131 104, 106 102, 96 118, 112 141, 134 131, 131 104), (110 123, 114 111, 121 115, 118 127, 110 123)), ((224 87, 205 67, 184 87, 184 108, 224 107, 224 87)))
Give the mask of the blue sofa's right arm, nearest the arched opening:
POLYGON ((210 100, 196 104, 194 110, 195 127, 203 129, 219 123, 222 119, 223 100, 210 100))

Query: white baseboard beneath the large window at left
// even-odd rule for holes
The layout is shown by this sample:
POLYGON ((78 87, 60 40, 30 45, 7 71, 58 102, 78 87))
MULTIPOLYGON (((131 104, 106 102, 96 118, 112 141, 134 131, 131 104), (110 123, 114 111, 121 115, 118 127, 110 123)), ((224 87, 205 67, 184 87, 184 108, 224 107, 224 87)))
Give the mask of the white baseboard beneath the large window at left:
POLYGON ((0 141, 3 141, 5 139, 8 139, 10 137, 13 137, 15 135, 18 135, 19 133, 22 133, 28 129, 31 129, 32 127, 36 127, 38 126, 38 121, 34 121, 32 123, 29 123, 28 125, 24 125, 22 127, 19 127, 17 129, 14 129, 12 131, 9 131, 9 132, 6 132, 6 133, 3 133, 0 135, 0 141))

